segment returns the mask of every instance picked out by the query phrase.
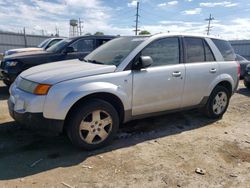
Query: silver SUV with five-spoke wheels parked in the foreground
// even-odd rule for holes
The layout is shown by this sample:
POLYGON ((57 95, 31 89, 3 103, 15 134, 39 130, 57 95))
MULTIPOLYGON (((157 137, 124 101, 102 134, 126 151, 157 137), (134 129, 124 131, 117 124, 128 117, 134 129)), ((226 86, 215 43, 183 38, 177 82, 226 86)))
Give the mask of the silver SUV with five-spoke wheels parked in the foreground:
POLYGON ((120 37, 83 61, 23 72, 10 88, 9 111, 29 128, 65 130, 74 145, 95 149, 133 119, 187 108, 221 118, 239 71, 224 40, 179 34, 120 37))

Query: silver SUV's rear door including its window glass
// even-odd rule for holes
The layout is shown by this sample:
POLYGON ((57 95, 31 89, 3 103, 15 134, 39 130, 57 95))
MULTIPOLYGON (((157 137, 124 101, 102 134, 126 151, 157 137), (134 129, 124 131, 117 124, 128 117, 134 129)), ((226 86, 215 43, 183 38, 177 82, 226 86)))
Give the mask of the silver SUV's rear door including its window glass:
POLYGON ((186 79, 182 107, 194 106, 209 96, 209 86, 218 75, 218 64, 203 38, 184 37, 186 79))

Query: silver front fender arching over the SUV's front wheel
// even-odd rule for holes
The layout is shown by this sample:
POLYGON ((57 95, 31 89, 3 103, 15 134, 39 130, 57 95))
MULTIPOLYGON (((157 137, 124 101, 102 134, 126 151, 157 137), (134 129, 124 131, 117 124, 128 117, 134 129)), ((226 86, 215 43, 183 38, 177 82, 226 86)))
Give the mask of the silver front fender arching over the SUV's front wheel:
POLYGON ((126 93, 125 88, 109 82, 93 82, 75 87, 66 95, 56 96, 58 91, 54 91, 54 94, 52 94, 53 92, 50 93, 44 105, 44 116, 46 118, 64 120, 70 108, 77 101, 90 94, 103 92, 117 96, 122 101, 125 110, 131 108, 131 99, 128 97, 129 95, 126 93))

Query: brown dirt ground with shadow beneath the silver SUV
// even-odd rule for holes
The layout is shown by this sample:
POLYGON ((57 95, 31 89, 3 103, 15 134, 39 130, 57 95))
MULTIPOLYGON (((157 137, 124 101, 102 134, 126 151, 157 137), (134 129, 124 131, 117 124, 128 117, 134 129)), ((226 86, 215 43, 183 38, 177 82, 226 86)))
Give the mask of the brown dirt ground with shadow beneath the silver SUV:
POLYGON ((192 110, 134 121, 112 145, 92 152, 77 150, 63 135, 20 129, 7 98, 0 83, 1 188, 250 188, 250 91, 242 82, 221 120, 192 110))

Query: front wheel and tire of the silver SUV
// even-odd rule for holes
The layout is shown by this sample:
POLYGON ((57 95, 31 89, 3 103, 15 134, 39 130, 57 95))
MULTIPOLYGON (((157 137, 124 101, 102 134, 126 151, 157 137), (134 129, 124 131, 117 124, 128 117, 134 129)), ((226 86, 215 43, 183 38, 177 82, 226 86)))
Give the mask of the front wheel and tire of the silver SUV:
POLYGON ((118 128, 115 108, 104 100, 93 99, 73 110, 66 131, 73 145, 94 150, 109 144, 118 128))

